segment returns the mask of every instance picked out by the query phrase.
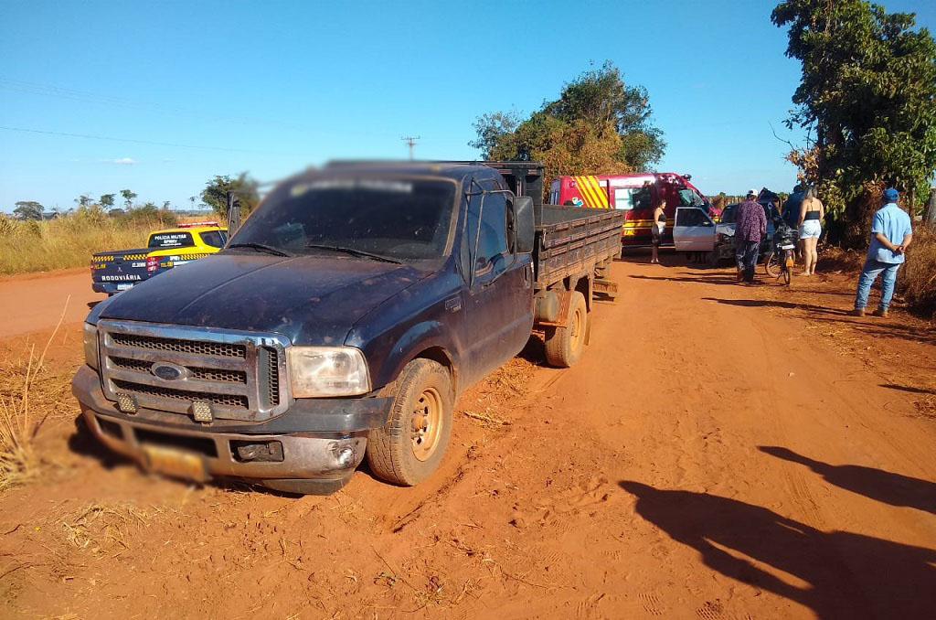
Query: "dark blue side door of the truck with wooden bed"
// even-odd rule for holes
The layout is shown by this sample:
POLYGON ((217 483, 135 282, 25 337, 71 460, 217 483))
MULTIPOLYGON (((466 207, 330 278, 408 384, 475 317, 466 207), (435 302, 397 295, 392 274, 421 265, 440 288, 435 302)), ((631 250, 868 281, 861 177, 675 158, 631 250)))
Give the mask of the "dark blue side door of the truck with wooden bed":
POLYGON ((461 248, 469 382, 517 355, 533 328, 533 262, 510 250, 504 190, 490 180, 469 190, 461 248))

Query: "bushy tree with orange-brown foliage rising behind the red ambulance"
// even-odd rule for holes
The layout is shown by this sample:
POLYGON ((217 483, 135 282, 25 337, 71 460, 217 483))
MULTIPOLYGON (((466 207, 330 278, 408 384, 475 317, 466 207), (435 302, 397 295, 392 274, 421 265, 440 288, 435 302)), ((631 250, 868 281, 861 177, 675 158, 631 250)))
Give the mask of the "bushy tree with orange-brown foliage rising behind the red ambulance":
POLYGON ((527 119, 492 112, 474 127, 477 138, 468 145, 485 159, 539 160, 550 177, 646 170, 665 149, 663 133, 651 125, 647 91, 625 84, 610 62, 566 83, 559 99, 527 119))

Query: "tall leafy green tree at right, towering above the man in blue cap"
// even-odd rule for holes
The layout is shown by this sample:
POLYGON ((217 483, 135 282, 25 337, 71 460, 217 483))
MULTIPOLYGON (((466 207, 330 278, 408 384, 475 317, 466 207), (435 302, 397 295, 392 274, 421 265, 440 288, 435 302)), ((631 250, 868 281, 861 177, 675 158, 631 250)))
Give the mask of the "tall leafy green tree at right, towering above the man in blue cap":
MULTIPOLYGON (((870 210, 885 186, 929 195, 936 169, 936 42, 914 15, 864 0, 785 0, 771 20, 789 26, 786 55, 802 63, 786 124, 807 130, 788 159, 817 185, 829 234, 867 242, 870 210)), ((912 213, 917 204, 905 201, 912 213)))

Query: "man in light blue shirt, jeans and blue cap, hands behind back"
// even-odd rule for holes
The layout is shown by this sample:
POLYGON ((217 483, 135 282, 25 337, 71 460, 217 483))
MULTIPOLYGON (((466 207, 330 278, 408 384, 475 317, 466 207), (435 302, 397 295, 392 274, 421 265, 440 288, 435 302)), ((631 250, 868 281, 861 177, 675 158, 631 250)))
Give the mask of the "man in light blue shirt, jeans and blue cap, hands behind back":
POLYGON ((903 262, 907 246, 913 241, 910 215, 897 206, 899 194, 896 189, 888 188, 881 195, 883 205, 874 214, 871 222, 871 242, 868 246, 868 258, 864 269, 858 276, 858 290, 855 295, 855 309, 852 316, 864 317, 868 305, 868 293, 878 275, 881 279, 881 303, 874 311, 875 317, 886 317, 887 306, 894 297, 894 283, 897 282, 897 270, 903 262))

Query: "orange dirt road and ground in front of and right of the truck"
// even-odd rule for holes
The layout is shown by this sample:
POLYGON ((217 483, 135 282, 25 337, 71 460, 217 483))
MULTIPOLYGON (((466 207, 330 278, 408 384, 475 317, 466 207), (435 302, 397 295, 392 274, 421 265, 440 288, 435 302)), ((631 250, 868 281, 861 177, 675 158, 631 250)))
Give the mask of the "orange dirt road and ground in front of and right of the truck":
POLYGON ((191 488, 52 425, 0 495, 0 612, 936 617, 936 332, 845 317, 843 277, 612 275, 581 362, 532 342, 414 489, 191 488))

